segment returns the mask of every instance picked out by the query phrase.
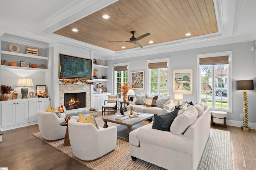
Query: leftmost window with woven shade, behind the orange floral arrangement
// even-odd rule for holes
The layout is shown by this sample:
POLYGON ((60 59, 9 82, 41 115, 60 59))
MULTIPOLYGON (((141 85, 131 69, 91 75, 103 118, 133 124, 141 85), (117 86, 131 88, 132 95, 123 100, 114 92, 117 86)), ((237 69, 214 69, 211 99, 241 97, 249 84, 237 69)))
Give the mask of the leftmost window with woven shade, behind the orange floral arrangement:
POLYGON ((123 83, 128 83, 128 63, 122 63, 121 65, 118 64, 114 66, 114 80, 115 80, 115 87, 114 87, 114 94, 118 95, 120 99, 122 96, 119 92, 119 85, 123 83))

